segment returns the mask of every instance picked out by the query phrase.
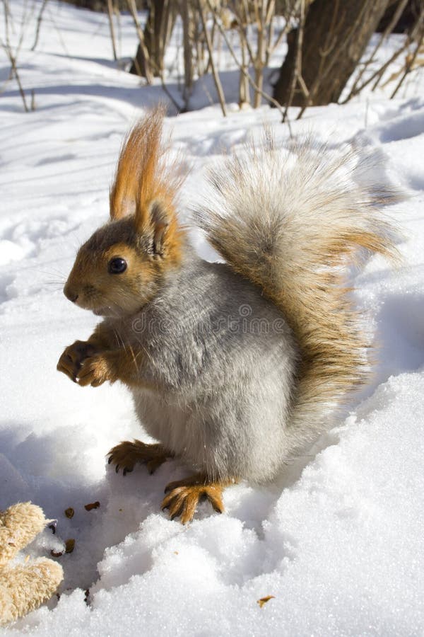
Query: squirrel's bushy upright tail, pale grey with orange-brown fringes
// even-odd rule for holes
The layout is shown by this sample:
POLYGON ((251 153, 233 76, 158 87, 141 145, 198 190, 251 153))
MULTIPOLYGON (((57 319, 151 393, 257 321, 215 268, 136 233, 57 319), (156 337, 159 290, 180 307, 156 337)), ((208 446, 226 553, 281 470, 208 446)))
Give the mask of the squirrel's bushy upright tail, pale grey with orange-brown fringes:
POLYGON ((367 338, 342 266, 364 251, 396 256, 380 208, 403 198, 370 183, 373 164, 358 161, 353 149, 336 153, 310 142, 285 156, 266 132, 259 149, 211 170, 211 195, 196 212, 218 253, 293 328, 302 359, 294 447, 316 437, 330 409, 365 377, 367 338))

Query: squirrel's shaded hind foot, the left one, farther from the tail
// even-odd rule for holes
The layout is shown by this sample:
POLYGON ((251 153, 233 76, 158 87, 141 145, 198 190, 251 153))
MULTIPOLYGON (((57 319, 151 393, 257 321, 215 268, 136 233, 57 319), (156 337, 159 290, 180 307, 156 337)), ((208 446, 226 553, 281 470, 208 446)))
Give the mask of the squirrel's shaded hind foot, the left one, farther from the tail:
POLYGON ((122 469, 124 476, 129 474, 137 463, 146 464, 149 474, 153 474, 167 458, 173 457, 173 454, 164 449, 162 444, 146 444, 141 440, 119 442, 107 455, 108 463, 116 465, 117 473, 119 469, 122 469))

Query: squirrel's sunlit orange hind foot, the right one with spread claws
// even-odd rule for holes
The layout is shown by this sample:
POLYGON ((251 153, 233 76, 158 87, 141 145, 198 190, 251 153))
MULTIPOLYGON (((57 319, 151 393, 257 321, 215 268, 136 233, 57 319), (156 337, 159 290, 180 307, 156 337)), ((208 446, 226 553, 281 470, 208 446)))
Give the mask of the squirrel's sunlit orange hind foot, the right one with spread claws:
POLYGON ((230 481, 210 481, 201 474, 170 482, 165 487, 167 495, 163 498, 161 507, 169 510, 171 520, 179 517, 182 524, 193 520, 197 505, 204 498, 209 500, 216 512, 223 513, 223 490, 229 484, 230 481))

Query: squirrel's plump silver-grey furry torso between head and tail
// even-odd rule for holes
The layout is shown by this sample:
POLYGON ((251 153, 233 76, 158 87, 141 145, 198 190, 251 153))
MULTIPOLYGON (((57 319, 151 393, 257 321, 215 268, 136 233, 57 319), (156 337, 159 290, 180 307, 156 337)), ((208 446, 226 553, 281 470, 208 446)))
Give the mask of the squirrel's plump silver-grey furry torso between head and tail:
POLYGON ((281 313, 229 268, 195 256, 163 296, 137 335, 143 377, 158 388, 131 390, 143 427, 211 476, 271 478, 285 457, 298 364, 281 313))

